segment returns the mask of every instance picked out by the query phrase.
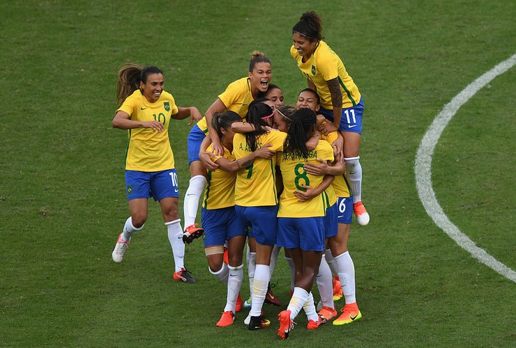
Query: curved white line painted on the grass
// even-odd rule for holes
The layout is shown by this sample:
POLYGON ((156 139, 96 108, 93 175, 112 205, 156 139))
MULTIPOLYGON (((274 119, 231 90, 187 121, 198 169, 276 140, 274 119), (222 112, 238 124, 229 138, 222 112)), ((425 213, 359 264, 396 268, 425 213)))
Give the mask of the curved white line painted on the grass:
MULTIPOLYGON (((425 207, 427 214, 430 215, 432 220, 441 228, 448 236, 450 236, 461 248, 468 251, 473 258, 485 264, 487 267, 494 269, 502 276, 513 280, 516 283, 516 272, 510 269, 505 264, 499 262, 488 254, 482 248, 479 248, 475 243, 469 239, 464 233, 462 233, 457 226, 455 226, 446 214, 444 214, 441 205, 437 202, 434 189, 432 188, 432 155, 434 154, 435 145, 439 141, 443 130, 448 125, 448 122, 453 118, 457 110, 466 103, 469 98, 473 97, 480 88, 489 84, 492 79, 500 74, 503 74, 507 70, 516 64, 516 54, 508 58, 486 72, 482 76, 478 77, 471 84, 466 86, 461 93, 456 95, 451 102, 443 107, 443 110, 434 118, 432 125, 428 127, 428 130, 423 136, 418 153, 416 155, 416 166, 414 171, 416 172, 416 187, 418 189, 419 199, 425 207)), ((513 219, 513 216, 508 216, 508 219, 513 219)))

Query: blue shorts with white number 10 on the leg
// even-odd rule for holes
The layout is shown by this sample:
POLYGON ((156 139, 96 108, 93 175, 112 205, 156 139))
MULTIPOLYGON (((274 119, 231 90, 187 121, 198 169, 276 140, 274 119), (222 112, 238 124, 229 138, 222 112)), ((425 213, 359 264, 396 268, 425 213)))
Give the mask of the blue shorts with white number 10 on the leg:
POLYGON ((126 193, 127 200, 179 198, 177 172, 175 169, 158 172, 126 171, 126 193))

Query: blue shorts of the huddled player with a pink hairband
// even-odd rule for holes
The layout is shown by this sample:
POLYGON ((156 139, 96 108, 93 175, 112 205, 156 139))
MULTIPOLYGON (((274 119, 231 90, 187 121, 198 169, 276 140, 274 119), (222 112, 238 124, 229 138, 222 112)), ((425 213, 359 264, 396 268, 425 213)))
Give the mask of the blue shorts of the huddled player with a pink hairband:
POLYGON ((250 224, 249 237, 255 238, 261 245, 276 244, 278 234, 278 205, 264 207, 242 207, 235 205, 236 215, 240 216, 246 225, 250 224))

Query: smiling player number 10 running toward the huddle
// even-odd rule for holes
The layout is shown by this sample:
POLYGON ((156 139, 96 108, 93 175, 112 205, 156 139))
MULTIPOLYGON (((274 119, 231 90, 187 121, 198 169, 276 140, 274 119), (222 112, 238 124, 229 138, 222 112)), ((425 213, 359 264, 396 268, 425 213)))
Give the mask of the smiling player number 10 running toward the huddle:
POLYGON ((147 200, 160 202, 174 254, 174 280, 195 283, 184 266, 183 229, 177 212, 179 187, 174 153, 169 141, 170 120, 202 118, 197 108, 176 106, 163 86, 163 72, 153 66, 124 65, 118 74, 118 102, 112 126, 128 129, 126 151, 126 193, 131 216, 114 247, 114 262, 122 262, 130 239, 142 230, 147 219, 147 200))

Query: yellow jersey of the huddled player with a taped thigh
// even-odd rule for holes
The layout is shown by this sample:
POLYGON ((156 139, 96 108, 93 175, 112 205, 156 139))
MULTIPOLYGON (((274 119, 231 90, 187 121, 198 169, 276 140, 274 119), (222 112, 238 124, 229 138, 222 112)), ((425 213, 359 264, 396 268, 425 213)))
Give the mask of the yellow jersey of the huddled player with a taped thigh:
MULTIPOLYGON (((211 145, 206 152, 211 152, 211 145)), ((227 158, 234 161, 235 157, 227 148, 224 148, 224 155, 211 158, 211 161, 217 162, 220 158, 227 158)), ((233 207, 235 205, 235 182, 236 174, 227 173, 222 169, 208 171, 208 183, 204 189, 204 197, 202 198, 202 207, 204 209, 221 209, 233 207)))

